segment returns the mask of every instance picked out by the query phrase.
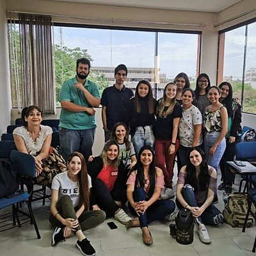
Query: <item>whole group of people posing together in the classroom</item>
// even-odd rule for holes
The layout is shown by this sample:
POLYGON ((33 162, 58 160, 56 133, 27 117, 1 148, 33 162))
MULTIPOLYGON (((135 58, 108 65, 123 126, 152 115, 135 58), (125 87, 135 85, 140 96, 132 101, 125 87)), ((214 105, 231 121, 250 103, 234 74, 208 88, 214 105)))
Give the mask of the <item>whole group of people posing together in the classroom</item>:
POLYGON ((40 124, 37 106, 23 109, 24 126, 13 131, 17 149, 35 158, 36 182, 51 186, 52 245, 75 234, 76 248, 94 255, 83 230, 109 216, 127 228, 140 227, 143 243, 152 244, 148 223, 175 210, 175 202, 161 199, 161 192, 173 187, 176 156, 176 204, 192 212, 200 240, 211 243, 204 224, 223 223, 213 205, 218 166, 218 189, 231 193, 233 177, 226 161, 234 158, 241 132, 241 108, 233 102, 232 85, 211 86, 209 76, 200 74, 193 91, 188 76, 180 73, 156 100, 148 81, 138 83, 135 95, 125 87, 127 68, 118 65, 115 84, 100 99, 97 85, 86 79, 89 73, 90 61, 77 60, 76 77, 61 88, 61 154, 51 148, 52 131, 40 124), (99 104, 105 144, 100 156, 93 156, 93 108, 99 104), (123 209, 127 200, 135 218, 123 209))

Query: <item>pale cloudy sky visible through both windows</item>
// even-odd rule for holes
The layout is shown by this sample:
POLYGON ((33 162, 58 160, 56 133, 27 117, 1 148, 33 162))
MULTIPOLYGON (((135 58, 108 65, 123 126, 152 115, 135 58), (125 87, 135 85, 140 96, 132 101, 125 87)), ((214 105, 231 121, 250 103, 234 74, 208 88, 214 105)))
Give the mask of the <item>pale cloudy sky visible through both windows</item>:
MULTIPOLYGON (((63 45, 87 49, 95 67, 154 68, 154 32, 111 29, 62 28, 63 45)), ((224 76, 243 76, 245 26, 225 33, 224 76)), ((158 33, 160 73, 173 78, 180 72, 195 77, 198 35, 158 33)), ((60 44, 60 27, 54 28, 54 42, 60 44)), ((256 22, 248 25, 246 70, 256 68, 256 22)))

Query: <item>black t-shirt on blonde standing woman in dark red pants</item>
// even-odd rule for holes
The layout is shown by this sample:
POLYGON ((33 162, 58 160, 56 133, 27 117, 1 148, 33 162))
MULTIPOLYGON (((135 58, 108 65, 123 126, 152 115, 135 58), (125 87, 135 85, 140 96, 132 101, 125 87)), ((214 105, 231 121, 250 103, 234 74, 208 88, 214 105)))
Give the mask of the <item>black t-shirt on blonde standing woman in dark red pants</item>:
MULTIPOLYGON (((157 101, 159 104, 159 100, 157 101)), ((166 111, 168 107, 164 108, 166 111)), ((156 113, 156 123, 154 125, 154 135, 158 140, 172 140, 172 130, 173 130, 173 119, 182 117, 182 108, 179 103, 176 103, 172 114, 164 117, 160 117, 156 113)))

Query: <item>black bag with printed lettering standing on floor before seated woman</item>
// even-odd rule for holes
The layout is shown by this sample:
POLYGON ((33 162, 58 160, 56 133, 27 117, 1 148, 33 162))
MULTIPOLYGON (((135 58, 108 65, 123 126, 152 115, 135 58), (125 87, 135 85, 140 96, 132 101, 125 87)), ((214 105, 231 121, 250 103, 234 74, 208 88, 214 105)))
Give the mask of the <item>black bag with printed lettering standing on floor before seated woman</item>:
POLYGON ((176 218, 176 241, 180 244, 191 244, 194 239, 194 218, 188 209, 180 209, 176 218))

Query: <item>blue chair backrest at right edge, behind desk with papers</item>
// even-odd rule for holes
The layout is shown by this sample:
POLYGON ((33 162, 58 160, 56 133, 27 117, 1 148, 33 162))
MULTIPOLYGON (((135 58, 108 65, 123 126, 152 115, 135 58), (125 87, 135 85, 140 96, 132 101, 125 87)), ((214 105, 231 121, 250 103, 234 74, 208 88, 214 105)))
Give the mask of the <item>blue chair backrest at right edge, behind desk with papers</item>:
POLYGON ((255 159, 256 159, 256 141, 237 143, 236 160, 250 161, 255 159))

